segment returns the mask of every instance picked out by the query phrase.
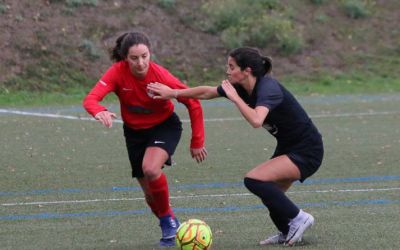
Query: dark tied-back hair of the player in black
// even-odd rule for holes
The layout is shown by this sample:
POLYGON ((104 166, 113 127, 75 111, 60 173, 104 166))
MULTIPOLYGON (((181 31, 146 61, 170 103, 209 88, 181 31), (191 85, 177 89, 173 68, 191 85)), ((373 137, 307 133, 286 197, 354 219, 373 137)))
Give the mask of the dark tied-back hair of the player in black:
POLYGON ((269 74, 272 70, 272 59, 263 56, 257 49, 242 47, 232 50, 229 56, 235 59, 241 70, 251 68, 251 74, 261 77, 269 74))

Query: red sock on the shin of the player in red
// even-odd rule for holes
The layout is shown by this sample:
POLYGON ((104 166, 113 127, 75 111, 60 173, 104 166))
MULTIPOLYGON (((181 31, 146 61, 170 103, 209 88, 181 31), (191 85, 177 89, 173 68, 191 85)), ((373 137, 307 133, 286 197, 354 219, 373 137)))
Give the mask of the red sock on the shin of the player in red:
POLYGON ((158 218, 166 215, 170 215, 174 218, 174 213, 169 204, 169 190, 167 177, 164 173, 160 175, 158 179, 149 181, 149 191, 153 200, 151 203, 148 202, 151 210, 157 213, 158 218))

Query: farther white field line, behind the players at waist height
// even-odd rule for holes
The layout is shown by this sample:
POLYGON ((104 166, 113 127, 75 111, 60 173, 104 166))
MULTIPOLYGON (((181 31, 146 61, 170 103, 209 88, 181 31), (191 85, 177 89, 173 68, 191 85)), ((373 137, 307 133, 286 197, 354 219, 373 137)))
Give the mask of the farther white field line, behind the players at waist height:
MULTIPOLYGON (((8 110, 8 109, 0 109, 0 113, 24 115, 24 116, 47 117, 47 118, 62 118, 62 119, 69 119, 69 120, 96 121, 94 118, 91 118, 91 117, 26 112, 26 111, 8 110)), ((311 118, 360 117, 360 116, 398 115, 398 114, 400 114, 400 112, 381 111, 381 112, 360 112, 360 113, 340 113, 340 114, 327 113, 327 114, 310 115, 310 117, 311 118)), ((206 118, 206 119, 204 119, 205 122, 223 122, 223 121, 240 121, 240 120, 243 120, 243 118, 242 117, 225 117, 225 118, 206 118)), ((114 122, 122 123, 122 121, 119 119, 114 120, 114 122)), ((182 122, 188 123, 188 122, 190 122, 190 120, 182 119, 182 122)))

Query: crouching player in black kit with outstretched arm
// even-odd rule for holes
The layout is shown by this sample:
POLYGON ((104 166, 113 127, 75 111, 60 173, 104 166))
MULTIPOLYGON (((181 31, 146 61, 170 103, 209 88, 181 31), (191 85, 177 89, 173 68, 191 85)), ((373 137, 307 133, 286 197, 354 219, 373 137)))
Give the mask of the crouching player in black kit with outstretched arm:
POLYGON ((279 230, 260 244, 292 246, 302 240, 314 217, 299 209, 285 192, 293 182, 303 182, 318 170, 324 149, 318 129, 294 96, 269 75, 271 69, 270 58, 243 47, 229 53, 228 79, 217 87, 178 90, 152 83, 148 89, 156 93, 155 99, 226 97, 254 128, 264 127, 276 138, 272 157, 250 170, 244 185, 261 199, 279 230))

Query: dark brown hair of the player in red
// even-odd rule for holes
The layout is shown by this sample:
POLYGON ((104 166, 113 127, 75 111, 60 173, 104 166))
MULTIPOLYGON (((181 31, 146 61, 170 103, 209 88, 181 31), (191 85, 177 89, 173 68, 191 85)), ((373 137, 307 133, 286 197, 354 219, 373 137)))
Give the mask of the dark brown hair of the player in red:
POLYGON ((150 39, 146 34, 140 32, 128 32, 117 38, 115 46, 111 50, 111 60, 119 62, 124 60, 127 55, 129 48, 134 45, 144 44, 149 50, 151 48, 150 39))

